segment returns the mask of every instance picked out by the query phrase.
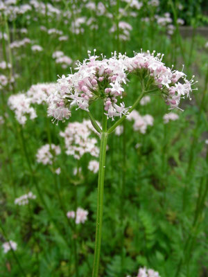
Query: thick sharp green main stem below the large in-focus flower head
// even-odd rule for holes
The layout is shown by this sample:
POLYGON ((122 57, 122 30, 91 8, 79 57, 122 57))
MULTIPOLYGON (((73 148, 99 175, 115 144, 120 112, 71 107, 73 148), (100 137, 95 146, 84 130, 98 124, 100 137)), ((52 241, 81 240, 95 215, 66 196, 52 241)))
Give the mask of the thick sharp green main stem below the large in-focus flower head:
POLYGON ((98 174, 98 200, 97 200, 97 217, 96 217, 96 242, 94 250, 94 267, 92 277, 98 276, 100 253, 101 253, 101 236, 103 224, 103 193, 104 193, 104 178, 105 178, 105 155, 107 145, 107 117, 103 115, 103 129, 101 133, 101 148, 98 174))

